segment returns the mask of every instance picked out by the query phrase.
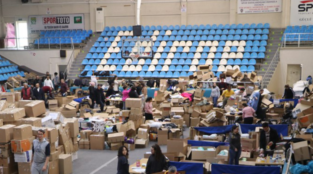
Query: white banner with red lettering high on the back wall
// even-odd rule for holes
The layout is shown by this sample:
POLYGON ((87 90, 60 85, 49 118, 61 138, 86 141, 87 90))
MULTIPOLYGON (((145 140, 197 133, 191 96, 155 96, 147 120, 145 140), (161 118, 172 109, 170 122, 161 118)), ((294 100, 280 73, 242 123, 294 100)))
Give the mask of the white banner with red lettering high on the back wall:
POLYGON ((282 0, 238 0, 237 13, 281 12, 282 0))

